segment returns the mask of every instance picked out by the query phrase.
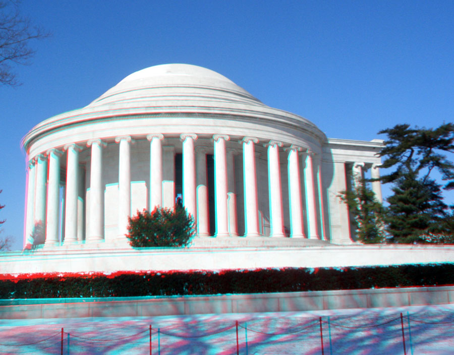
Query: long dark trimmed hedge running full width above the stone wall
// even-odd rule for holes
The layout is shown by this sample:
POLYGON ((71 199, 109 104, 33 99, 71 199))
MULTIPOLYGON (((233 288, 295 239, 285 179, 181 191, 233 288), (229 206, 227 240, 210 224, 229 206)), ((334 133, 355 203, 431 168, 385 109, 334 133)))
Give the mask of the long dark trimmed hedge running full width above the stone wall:
POLYGON ((1 275, 0 299, 318 291, 454 284, 454 264, 1 275))

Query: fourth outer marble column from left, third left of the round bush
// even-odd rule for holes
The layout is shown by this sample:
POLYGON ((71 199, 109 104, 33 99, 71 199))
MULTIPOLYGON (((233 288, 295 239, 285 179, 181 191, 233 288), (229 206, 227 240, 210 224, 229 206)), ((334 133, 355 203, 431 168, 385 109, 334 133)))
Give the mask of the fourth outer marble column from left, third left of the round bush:
POLYGON ((77 242, 78 224, 78 182, 79 182, 79 152, 81 147, 76 144, 65 146, 67 151, 66 164, 66 196, 65 196, 65 244, 77 242))

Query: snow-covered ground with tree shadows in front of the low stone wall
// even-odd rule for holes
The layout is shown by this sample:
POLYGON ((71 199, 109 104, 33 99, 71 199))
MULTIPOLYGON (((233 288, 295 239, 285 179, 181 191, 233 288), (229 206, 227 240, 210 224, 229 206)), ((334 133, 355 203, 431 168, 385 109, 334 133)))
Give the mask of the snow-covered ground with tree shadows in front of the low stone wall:
POLYGON ((166 317, 0 320, 0 353, 454 353, 454 305, 166 317), (48 338, 47 340, 44 340, 48 338))

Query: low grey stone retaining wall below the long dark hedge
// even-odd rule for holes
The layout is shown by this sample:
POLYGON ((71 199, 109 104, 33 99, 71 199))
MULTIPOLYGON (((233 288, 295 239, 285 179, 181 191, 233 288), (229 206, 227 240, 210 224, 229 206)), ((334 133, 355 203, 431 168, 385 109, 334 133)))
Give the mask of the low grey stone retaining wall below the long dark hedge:
POLYGON ((299 312, 449 304, 454 286, 174 297, 0 300, 1 319, 299 312))

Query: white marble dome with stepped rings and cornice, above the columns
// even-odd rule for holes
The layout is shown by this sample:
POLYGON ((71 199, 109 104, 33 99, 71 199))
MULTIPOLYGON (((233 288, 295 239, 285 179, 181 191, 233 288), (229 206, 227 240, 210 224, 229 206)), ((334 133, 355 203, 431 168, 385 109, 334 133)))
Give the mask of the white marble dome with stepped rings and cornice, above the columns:
POLYGON ((56 126, 66 129, 88 121, 133 120, 137 115, 179 119, 207 117, 209 121, 204 125, 208 126, 224 125, 224 122, 213 121, 224 117, 237 122, 260 120, 261 126, 280 125, 291 135, 298 135, 300 131, 313 136, 317 146, 326 141, 323 132, 309 120, 263 104, 212 70, 189 64, 165 64, 135 72, 87 106, 43 121, 25 136, 23 144, 28 149, 36 136, 56 126))

